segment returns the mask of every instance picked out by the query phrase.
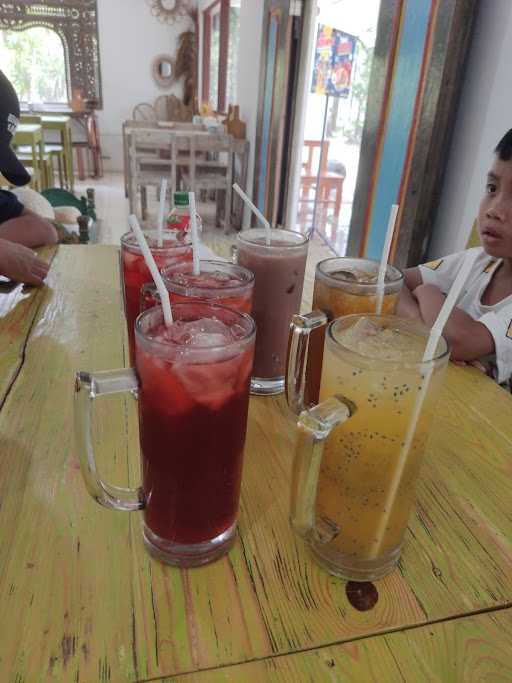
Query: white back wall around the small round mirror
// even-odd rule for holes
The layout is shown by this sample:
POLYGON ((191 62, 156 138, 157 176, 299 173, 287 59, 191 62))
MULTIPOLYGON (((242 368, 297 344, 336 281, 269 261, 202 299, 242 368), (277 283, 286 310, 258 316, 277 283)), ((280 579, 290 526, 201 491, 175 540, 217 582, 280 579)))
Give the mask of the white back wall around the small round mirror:
POLYGON ((174 57, 177 38, 190 25, 186 17, 174 24, 161 23, 145 0, 98 0, 103 90, 98 122, 105 169, 123 169, 121 126, 136 104, 153 103, 159 95, 183 95, 181 83, 160 89, 151 63, 159 54, 174 57))

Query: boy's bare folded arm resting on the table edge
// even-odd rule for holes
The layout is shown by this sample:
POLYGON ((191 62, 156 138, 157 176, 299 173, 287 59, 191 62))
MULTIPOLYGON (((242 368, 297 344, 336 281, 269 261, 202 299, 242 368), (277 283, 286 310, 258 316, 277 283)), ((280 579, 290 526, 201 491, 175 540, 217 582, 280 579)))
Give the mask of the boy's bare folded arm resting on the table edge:
MULTIPOLYGON (((432 327, 446 299, 435 285, 420 285, 414 290, 421 319, 432 327)), ((445 325, 443 336, 451 346, 452 360, 470 361, 495 352, 494 339, 487 327, 455 307, 445 325)))

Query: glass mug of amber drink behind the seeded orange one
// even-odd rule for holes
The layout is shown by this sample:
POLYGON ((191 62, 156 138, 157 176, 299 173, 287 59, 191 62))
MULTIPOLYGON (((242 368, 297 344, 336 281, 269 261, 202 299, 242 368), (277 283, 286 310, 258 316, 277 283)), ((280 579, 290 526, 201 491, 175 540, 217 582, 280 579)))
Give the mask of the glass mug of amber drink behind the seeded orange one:
MULTIPOLYGON (((320 261, 315 268, 313 310, 323 311, 329 321, 351 313, 375 313, 379 265, 378 261, 367 258, 335 257, 320 261)), ((395 312, 403 279, 398 268, 387 266, 382 314, 395 312)), ((288 405, 296 415, 305 405, 318 402, 324 332, 325 328, 319 327, 312 330, 308 338, 307 380, 302 403, 297 402, 287 382, 288 405)), ((289 343, 293 341, 290 339, 289 343)))

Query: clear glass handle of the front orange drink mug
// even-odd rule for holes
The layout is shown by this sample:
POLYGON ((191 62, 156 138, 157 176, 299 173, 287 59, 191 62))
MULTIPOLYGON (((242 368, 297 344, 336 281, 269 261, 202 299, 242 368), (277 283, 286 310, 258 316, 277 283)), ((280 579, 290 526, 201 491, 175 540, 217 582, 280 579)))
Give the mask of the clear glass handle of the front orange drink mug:
POLYGON ((325 440, 334 427, 348 420, 355 411, 351 401, 336 395, 300 414, 292 471, 290 523, 305 541, 328 543, 339 532, 333 520, 316 521, 318 476, 325 440))

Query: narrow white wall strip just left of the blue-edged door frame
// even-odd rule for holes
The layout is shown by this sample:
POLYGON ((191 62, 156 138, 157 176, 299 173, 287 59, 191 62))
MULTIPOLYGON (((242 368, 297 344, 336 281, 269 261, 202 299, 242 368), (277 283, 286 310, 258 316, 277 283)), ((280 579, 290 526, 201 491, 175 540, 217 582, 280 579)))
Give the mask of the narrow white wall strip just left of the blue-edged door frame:
MULTIPOLYGON (((251 145, 247 191, 252 196, 254 177, 254 147, 258 118, 261 41, 263 34, 263 0, 242 0, 240 7, 240 51, 238 55, 238 102, 240 118, 247 124, 247 139, 251 145)), ((245 188, 244 188, 245 189, 245 188)), ((249 225, 249 213, 244 215, 244 226, 249 225)))

